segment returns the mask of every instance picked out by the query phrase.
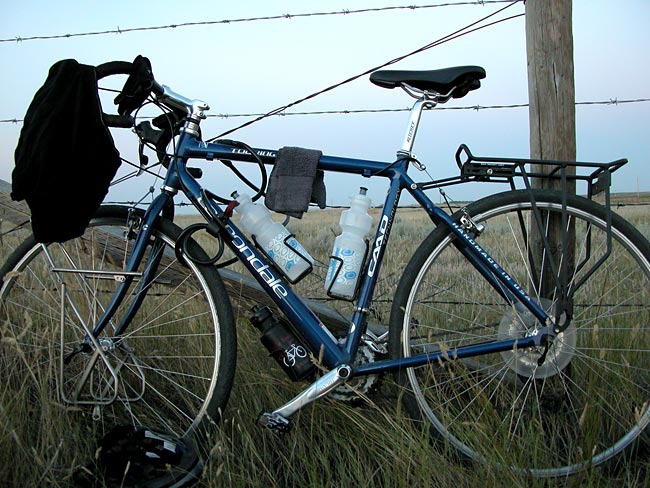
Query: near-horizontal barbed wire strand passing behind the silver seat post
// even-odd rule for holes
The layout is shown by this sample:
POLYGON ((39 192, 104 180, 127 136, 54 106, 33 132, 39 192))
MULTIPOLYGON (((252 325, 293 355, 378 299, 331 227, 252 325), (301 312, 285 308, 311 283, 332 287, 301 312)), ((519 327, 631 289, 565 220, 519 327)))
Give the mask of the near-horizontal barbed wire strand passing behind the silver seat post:
MULTIPOLYGON (((586 106, 586 105, 628 105, 633 103, 646 103, 650 102, 650 98, 630 98, 630 99, 618 99, 610 98, 607 100, 590 100, 583 102, 575 102, 576 106, 586 106)), ((473 110, 475 112, 481 110, 500 110, 500 109, 513 109, 513 108, 526 108, 529 104, 527 103, 513 103, 513 104, 500 104, 500 105, 465 105, 461 107, 436 107, 433 109, 425 110, 473 110)), ((341 110, 313 110, 305 112, 280 112, 274 114, 276 117, 291 117, 291 116, 307 116, 307 115, 357 115, 357 114, 380 114, 380 113, 391 113, 391 112, 409 112, 411 107, 402 107, 402 108, 367 108, 367 109, 341 109, 341 110)), ((234 114, 207 114, 208 118, 217 118, 217 119, 234 119, 234 118, 246 118, 246 117, 259 117, 264 115, 263 113, 234 113, 234 114)), ((138 117, 138 120, 152 119, 153 116, 148 117, 138 117)), ((12 124, 21 124, 23 119, 1 119, 0 123, 12 123, 12 124)))

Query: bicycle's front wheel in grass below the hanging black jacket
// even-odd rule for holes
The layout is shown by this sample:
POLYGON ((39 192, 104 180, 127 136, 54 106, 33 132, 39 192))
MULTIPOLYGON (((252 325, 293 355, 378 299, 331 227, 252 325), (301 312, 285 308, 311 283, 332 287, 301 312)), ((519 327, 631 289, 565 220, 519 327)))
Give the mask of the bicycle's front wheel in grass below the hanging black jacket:
MULTIPOLYGON (((214 267, 176 261, 181 229, 172 222, 159 218, 153 226, 142 266, 154 248, 162 261, 126 332, 111 335, 137 293, 134 284, 98 338, 104 357, 92 344, 77 349, 87 337, 83 324, 92 328, 120 281, 139 230, 127 223, 141 216, 102 207, 82 237, 48 245, 29 237, 0 269, 0 405, 12 433, 2 444, 22 460, 4 468, 3 485, 34 479, 34 486, 66 486, 61 480, 93 461, 98 440, 115 425, 200 442, 219 420, 235 370, 232 309, 214 267)), ((187 245, 207 258, 192 239, 187 245)))

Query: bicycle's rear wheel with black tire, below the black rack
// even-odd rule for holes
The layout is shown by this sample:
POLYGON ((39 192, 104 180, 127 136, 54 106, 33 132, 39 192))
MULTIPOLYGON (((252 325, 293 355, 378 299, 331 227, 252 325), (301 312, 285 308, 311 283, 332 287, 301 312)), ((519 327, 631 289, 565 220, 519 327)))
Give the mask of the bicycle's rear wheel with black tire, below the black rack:
MULTIPOLYGON (((560 269, 566 260, 568 327, 546 351, 441 362, 398 379, 407 411, 461 457, 525 475, 566 476, 633 446, 650 422, 650 245, 619 216, 571 196, 561 229, 574 232, 574 244, 562 257, 553 245, 534 257, 532 236, 550 235, 548 223, 562 221, 563 206, 558 193, 533 195, 541 228, 527 191, 488 197, 466 211, 484 226, 475 241, 553 317, 559 294, 543 268, 554 261, 560 269)), ((406 268, 390 326, 393 357, 517 339, 540 328, 530 312, 495 292, 442 228, 406 268)))

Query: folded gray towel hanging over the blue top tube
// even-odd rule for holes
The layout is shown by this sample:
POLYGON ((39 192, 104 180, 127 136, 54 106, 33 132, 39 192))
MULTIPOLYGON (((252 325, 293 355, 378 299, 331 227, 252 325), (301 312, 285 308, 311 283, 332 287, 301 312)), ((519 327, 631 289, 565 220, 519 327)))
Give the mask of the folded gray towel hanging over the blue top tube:
POLYGON ((325 208, 323 172, 316 169, 322 155, 314 149, 281 148, 269 178, 266 206, 296 218, 302 218, 310 201, 325 208))

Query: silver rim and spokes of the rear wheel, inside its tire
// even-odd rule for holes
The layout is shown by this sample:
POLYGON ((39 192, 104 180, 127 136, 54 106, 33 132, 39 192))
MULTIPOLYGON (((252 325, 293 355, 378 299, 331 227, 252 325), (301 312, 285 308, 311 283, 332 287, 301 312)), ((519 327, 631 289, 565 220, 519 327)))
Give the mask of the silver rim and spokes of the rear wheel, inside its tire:
MULTIPOLYGON (((561 209, 559 203, 538 204, 555 211, 561 209)), ((498 211, 488 210, 477 215, 476 222, 496 222, 510 233, 505 237, 499 236, 499 232, 488 228, 488 236, 482 235, 477 242, 483 243, 483 247, 492 253, 494 246, 489 243, 490 233, 499 237, 501 242, 507 241, 517 224, 514 219, 505 222, 508 219, 503 214, 522 205, 524 204, 519 202, 512 203, 500 207, 498 211), (497 214, 500 215, 499 221, 495 219, 497 214)), ((602 220, 583 210, 574 209, 571 219, 577 224, 580 220, 599 224, 600 230, 604 225, 602 220)), ((593 235, 596 233, 595 225, 590 228, 593 247, 597 241, 593 235)), ((561 347, 555 355, 551 354, 550 360, 547 359, 545 364, 550 366, 546 371, 531 366, 533 363, 530 359, 539 357, 539 352, 535 351, 518 351, 516 357, 515 353, 507 352, 498 358, 475 358, 456 365, 430 366, 408 371, 407 377, 413 387, 415 401, 438 436, 442 436, 469 458, 513 466, 516 470, 535 476, 561 476, 602 463, 638 437, 639 432, 650 422, 647 403, 650 398, 650 379, 644 366, 650 349, 646 338, 648 334, 644 333, 648 320, 645 304, 650 303, 647 291, 650 288, 647 271, 649 265, 647 259, 638 253, 630 256, 630 250, 634 246, 626 236, 616 232, 614 237, 614 251, 620 253, 620 256, 627 253, 631 264, 619 264, 623 258, 613 255, 607 262, 608 268, 588 280, 582 288, 584 291, 576 292, 576 301, 579 301, 583 296, 589 295, 587 286, 596 289, 598 285, 598 296, 601 299, 611 296, 609 302, 601 300, 596 304, 576 304, 573 321, 558 338, 561 339, 561 347), (613 264, 610 265, 610 261, 613 264), (604 277, 610 281, 619 279, 621 283, 634 278, 636 284, 642 286, 637 291, 630 289, 627 292, 623 287, 623 291, 619 290, 615 294, 612 285, 607 285, 604 277), (619 325, 616 325, 619 329, 611 327, 626 319, 628 324, 625 329, 619 325), (610 328, 604 327, 608 324, 610 328), (636 339, 632 341, 630 337, 634 336, 636 339), (612 339, 623 342, 616 345, 611 342, 612 339), (586 380, 589 381, 581 383, 586 380), (625 393, 612 393, 616 390, 611 385, 618 385, 625 393), (504 393, 506 390, 508 395, 504 393), (626 398, 626 394, 632 394, 633 397, 626 398), (595 400, 591 401, 590 398, 595 400), (537 416, 537 419, 532 420, 527 415, 537 416), (548 419, 543 419, 543 415, 548 419), (629 418, 633 420, 630 421, 629 418), (589 436, 592 439, 588 439, 589 436, 583 434, 587 431, 586 425, 590 422, 597 423, 599 419, 612 432, 606 432, 605 427, 591 426, 592 433, 589 436), (546 431, 540 434, 541 429, 546 431), (494 440, 495 436, 499 437, 498 441, 494 440), (538 439, 535 440, 534 436, 538 436, 538 439), (567 439, 570 436, 578 439, 567 439), (503 452, 494 450, 495 443, 499 444, 496 451, 503 452), (580 454, 580 449, 590 449, 589 452, 593 454, 580 454), (512 455, 512 451, 517 450, 528 450, 529 454, 512 455), (557 455, 553 454, 553 450, 557 450, 557 455)), ((522 241, 523 238, 513 256, 525 256, 526 246, 522 241)), ((401 344, 405 356, 443 347, 452 348, 469 342, 470 339, 480 342, 481 339, 494 340, 512 334, 508 330, 508 323, 512 323, 513 317, 518 315, 517 310, 512 311, 512 307, 503 302, 489 302, 493 298, 488 297, 495 294, 483 293, 485 290, 480 284, 482 278, 476 272, 468 272, 468 268, 461 267, 464 260, 455 250, 450 252, 452 246, 447 247, 447 244, 449 239, 435 246, 434 252, 415 278, 402 327, 401 344), (445 278, 429 275, 428 269, 434 259, 438 263, 433 267, 432 273, 441 273, 439 263, 448 265, 453 271, 443 270, 443 275, 447 273, 445 278), (467 275, 461 276, 465 272, 467 275), (480 318, 472 319, 469 315, 463 315, 460 302, 467 301, 467 297, 461 297, 463 294, 454 290, 461 283, 467 285, 466 289, 472 290, 465 293, 474 299, 469 304, 472 315, 480 318), (492 317, 492 325, 489 317, 492 317), (464 324, 464 332, 454 331, 454 323, 464 324), (490 336, 493 337, 490 339, 490 336)), ((595 252, 594 249, 591 251, 595 252)), ((509 272, 517 268, 514 257, 506 256, 505 252, 493 254, 493 257, 509 272)), ((579 274, 580 272, 575 277, 579 278, 579 274)), ((532 280, 529 275, 530 270, 526 269, 520 269, 516 276, 513 274, 519 283, 530 284, 532 280)), ((552 301, 545 303, 545 299, 535 295, 533 298, 542 302, 545 308, 552 306, 552 301)), ((464 306, 467 308, 467 304, 464 306)), ((522 319, 520 316, 518 320, 519 324, 524 325, 527 321, 526 317, 522 319)))

